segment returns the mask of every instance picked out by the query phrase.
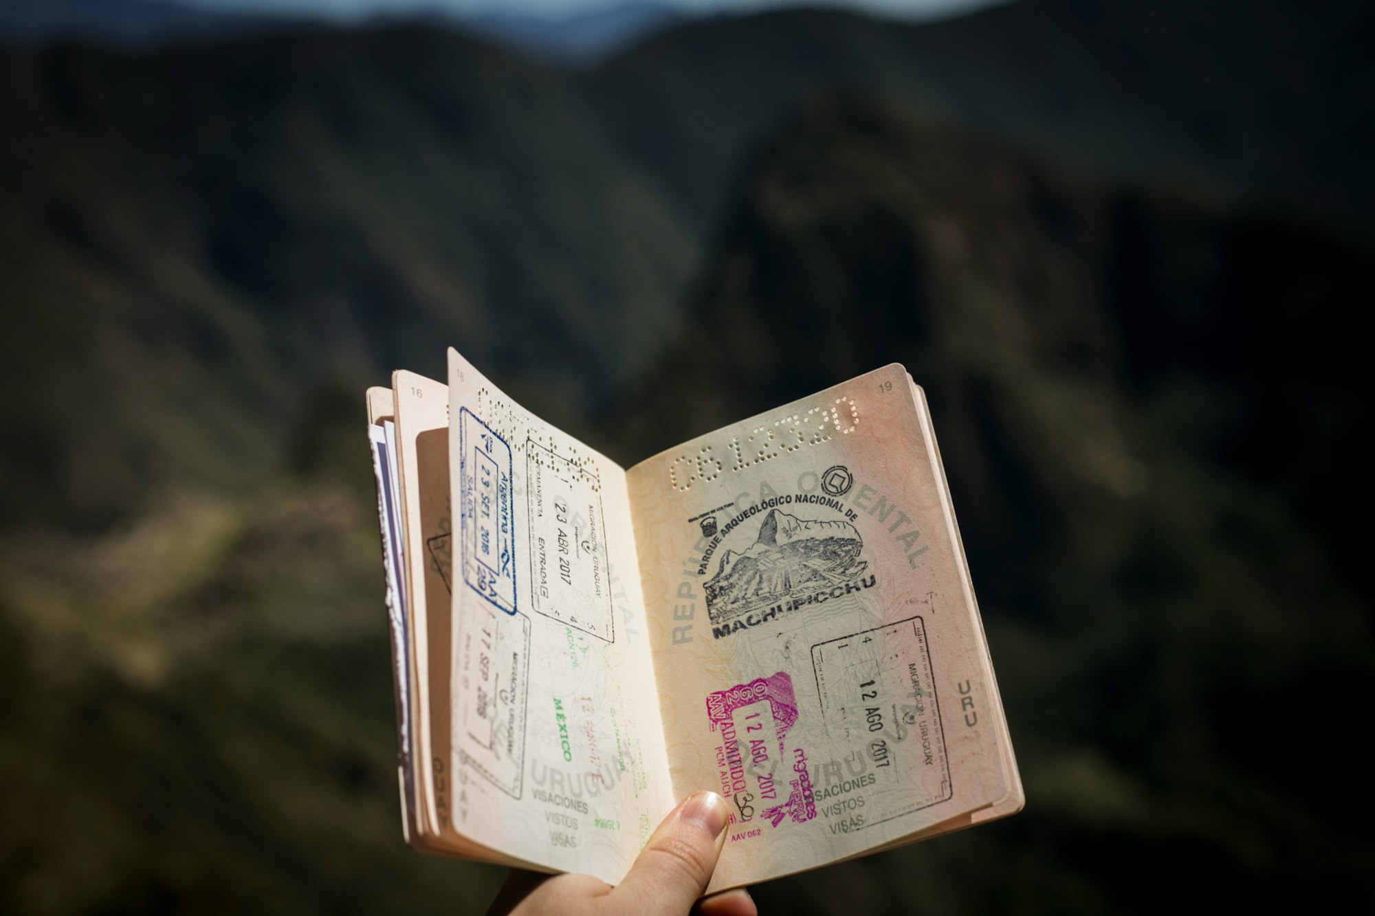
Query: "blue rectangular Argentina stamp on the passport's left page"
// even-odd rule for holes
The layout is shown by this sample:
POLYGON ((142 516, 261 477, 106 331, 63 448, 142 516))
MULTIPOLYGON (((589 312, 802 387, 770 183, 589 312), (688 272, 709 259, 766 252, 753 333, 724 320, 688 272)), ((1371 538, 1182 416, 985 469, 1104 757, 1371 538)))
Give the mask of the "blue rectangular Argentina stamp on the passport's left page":
POLYGON ((459 520, 463 580, 516 613, 516 498, 512 448, 468 407, 459 410, 459 520))

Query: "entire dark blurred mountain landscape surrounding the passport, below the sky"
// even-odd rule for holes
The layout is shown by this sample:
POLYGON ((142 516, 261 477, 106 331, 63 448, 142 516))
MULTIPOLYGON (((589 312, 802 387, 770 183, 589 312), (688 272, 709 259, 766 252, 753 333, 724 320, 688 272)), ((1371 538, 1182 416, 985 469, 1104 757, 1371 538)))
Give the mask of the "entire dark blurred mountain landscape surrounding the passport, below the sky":
POLYGON ((766 912, 1370 906, 1370 29, 0 50, 0 910, 485 908, 496 869, 400 842, 362 436, 448 344, 626 462, 927 388, 1028 807, 766 912))

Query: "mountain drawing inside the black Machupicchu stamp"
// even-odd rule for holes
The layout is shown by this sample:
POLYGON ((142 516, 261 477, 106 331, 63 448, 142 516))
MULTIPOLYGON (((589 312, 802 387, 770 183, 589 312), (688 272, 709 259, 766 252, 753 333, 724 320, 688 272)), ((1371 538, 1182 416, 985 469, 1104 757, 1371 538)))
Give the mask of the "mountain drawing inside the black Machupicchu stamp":
POLYGON ((744 550, 726 550, 716 575, 704 586, 707 616, 719 624, 850 582, 869 565, 859 560, 862 547, 848 521, 799 519, 770 509, 755 542, 744 550))

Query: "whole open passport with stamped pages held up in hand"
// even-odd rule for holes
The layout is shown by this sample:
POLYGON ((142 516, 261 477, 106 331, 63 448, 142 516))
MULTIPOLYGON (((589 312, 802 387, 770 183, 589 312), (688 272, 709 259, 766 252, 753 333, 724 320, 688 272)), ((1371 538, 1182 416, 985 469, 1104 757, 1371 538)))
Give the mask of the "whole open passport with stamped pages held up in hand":
POLYGON ((411 846, 615 884, 714 789, 714 893, 1022 809, 902 366, 628 469, 454 349, 367 408, 411 846))

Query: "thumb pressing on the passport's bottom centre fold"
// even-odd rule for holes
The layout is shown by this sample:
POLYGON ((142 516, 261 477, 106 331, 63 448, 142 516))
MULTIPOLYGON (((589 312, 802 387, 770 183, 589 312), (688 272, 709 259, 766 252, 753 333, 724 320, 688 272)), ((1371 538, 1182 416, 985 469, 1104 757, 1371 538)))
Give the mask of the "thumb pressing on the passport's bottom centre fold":
POLYGON ((719 795, 697 792, 664 818, 610 895, 634 913, 686 913, 707 890, 729 820, 719 795))

